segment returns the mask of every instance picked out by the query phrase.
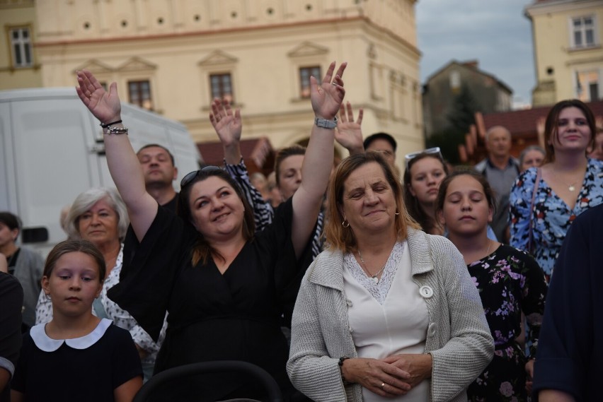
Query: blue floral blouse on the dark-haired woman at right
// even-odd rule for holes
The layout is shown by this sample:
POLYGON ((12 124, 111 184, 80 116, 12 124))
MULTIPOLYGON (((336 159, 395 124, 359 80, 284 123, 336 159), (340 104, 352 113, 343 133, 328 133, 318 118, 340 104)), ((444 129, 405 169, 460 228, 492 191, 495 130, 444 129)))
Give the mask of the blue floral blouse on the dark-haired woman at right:
POLYGON ((589 159, 584 182, 573 209, 543 179, 538 183, 534 209, 530 211, 536 167, 522 172, 511 189, 510 229, 512 247, 528 250, 532 219, 532 254, 549 280, 553 266, 573 220, 588 208, 603 203, 603 162, 589 159))

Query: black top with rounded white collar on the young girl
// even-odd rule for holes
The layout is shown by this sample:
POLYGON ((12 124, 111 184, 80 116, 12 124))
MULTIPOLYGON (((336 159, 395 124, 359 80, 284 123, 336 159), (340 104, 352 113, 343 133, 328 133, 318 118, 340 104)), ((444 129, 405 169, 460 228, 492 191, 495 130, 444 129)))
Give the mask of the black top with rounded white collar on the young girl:
MULTIPOLYGON (((45 324, 31 331, 40 326, 43 332, 45 324)), ((32 333, 23 335, 21 357, 11 382, 12 389, 25 394, 25 401, 115 401, 113 391, 118 386, 142 377, 132 336, 110 320, 101 321, 83 338, 62 341, 58 348, 59 341, 39 336, 39 332, 38 341, 32 333), (40 342, 45 350, 38 347, 40 342)))

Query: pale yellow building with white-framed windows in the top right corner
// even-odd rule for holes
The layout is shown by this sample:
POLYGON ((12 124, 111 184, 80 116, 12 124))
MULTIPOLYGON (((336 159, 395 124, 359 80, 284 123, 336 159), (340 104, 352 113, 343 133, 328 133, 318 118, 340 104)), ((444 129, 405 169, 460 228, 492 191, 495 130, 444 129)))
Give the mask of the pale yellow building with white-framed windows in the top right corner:
POLYGON ((603 99, 603 1, 536 0, 525 13, 534 35, 534 107, 603 99))

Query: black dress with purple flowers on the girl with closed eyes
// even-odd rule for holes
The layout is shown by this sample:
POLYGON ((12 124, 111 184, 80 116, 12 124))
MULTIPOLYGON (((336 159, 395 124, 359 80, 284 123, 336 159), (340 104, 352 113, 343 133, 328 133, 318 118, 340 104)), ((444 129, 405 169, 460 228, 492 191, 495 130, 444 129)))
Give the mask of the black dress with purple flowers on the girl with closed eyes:
POLYGON ((527 401, 527 357, 515 338, 522 331, 523 312, 529 324, 529 355, 536 355, 547 290, 544 274, 532 256, 505 244, 467 268, 495 345, 492 362, 469 385, 469 401, 527 401))

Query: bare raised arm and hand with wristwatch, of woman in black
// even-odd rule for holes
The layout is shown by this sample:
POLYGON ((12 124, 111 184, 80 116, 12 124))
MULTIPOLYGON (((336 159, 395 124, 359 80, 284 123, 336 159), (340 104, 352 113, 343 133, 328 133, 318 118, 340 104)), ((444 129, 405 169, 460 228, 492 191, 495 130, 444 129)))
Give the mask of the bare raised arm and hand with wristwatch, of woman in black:
MULTIPOLYGON (((328 67, 321 83, 310 77, 310 100, 318 119, 333 120, 343 102, 343 71, 347 63, 339 66, 335 77, 335 61, 328 67)), ((302 184, 293 195, 292 242, 295 255, 300 256, 316 224, 321 202, 333 167, 333 129, 312 126, 310 141, 302 165, 302 184)))

